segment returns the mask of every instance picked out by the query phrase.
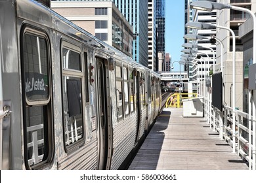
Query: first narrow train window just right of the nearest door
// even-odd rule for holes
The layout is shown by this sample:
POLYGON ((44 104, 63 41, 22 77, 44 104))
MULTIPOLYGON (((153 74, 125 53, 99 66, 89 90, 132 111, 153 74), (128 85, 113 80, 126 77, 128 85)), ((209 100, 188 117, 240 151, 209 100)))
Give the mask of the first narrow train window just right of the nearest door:
POLYGON ((123 78, 122 69, 116 65, 116 101, 117 101, 117 116, 123 118, 123 78))

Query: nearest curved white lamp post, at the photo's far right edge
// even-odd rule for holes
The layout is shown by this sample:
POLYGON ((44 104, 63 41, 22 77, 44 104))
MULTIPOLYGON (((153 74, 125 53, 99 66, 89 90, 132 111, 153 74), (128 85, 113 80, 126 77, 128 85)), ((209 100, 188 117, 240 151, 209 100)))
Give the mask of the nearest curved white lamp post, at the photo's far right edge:
MULTIPOLYGON (((194 2, 190 3, 190 8, 206 10, 206 11, 230 8, 233 10, 247 12, 248 14, 250 14, 251 17, 253 18, 253 64, 256 64, 256 16, 251 10, 248 10, 247 8, 236 7, 236 6, 226 5, 226 4, 222 4, 222 3, 213 3, 211 1, 194 1, 194 2)), ((253 164, 252 164, 252 169, 253 170, 256 169, 256 93, 255 92, 256 92, 255 90, 249 91, 249 118, 251 118, 251 105, 253 105, 253 108, 252 108, 253 109, 253 115, 252 115, 253 116, 253 118, 252 118, 252 121, 253 121, 253 148, 252 148, 253 164), (253 93, 253 101, 251 102, 252 93, 253 93)), ((234 108, 233 108, 233 110, 234 110, 234 108)), ((233 111, 233 115, 234 115, 234 111, 233 111)), ((234 122, 234 116, 233 116, 233 122, 234 122)), ((251 126, 250 119, 249 119, 249 126, 251 126)), ((249 127, 249 137, 251 137, 250 129, 251 129, 251 127, 249 127)), ((234 127, 233 127, 233 130, 234 130, 234 127)), ((250 142, 251 142, 251 138, 249 138, 249 144, 250 144, 250 142)), ((233 145, 234 145, 234 143, 233 143, 233 145)), ((233 146, 233 152, 234 151, 235 150, 234 150, 234 146, 233 146)), ((249 145, 249 154, 250 153, 251 153, 251 145, 249 145)), ((251 169, 251 161, 249 161, 249 168, 251 169)))

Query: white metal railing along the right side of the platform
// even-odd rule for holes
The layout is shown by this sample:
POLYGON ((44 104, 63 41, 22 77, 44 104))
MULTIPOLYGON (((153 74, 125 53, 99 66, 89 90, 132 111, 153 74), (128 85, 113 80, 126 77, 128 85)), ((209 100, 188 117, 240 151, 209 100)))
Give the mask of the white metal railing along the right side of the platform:
POLYGON ((252 130, 252 116, 241 110, 236 110, 236 115, 233 116, 233 109, 228 106, 224 106, 223 111, 211 107, 211 111, 213 112, 213 118, 209 119, 209 124, 213 127, 213 131, 219 132, 220 139, 228 142, 235 149, 234 152, 247 161, 250 170, 255 170, 256 158, 255 155, 253 156, 255 154, 253 148, 256 149, 256 147, 253 147, 255 144, 252 140, 255 138, 255 135, 253 135, 255 132, 252 130), (233 118, 235 118, 235 124, 233 118))

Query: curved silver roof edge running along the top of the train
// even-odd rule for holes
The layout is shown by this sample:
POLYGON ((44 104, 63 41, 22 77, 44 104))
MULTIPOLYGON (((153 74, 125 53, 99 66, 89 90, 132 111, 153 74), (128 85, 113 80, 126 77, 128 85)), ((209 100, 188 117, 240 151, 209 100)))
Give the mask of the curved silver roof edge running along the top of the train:
POLYGON ((94 35, 70 22, 51 8, 46 7, 45 5, 42 5, 41 3, 33 0, 16 0, 16 4, 18 17, 30 20, 32 22, 36 22, 37 24, 51 27, 56 31, 62 32, 70 37, 74 37, 80 42, 83 42, 87 45, 89 44, 94 48, 102 50, 102 52, 105 52, 112 58, 124 61, 132 67, 136 67, 140 71, 149 71, 150 73, 152 73, 152 75, 160 77, 158 73, 148 69, 148 67, 144 67, 140 63, 137 63, 132 58, 125 55, 123 52, 96 38, 94 35))

